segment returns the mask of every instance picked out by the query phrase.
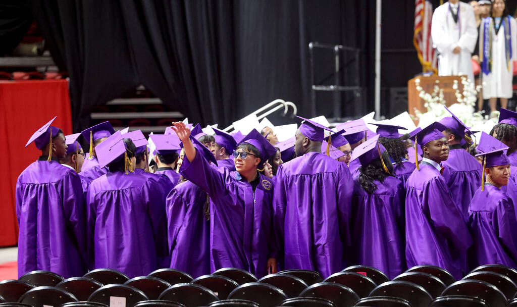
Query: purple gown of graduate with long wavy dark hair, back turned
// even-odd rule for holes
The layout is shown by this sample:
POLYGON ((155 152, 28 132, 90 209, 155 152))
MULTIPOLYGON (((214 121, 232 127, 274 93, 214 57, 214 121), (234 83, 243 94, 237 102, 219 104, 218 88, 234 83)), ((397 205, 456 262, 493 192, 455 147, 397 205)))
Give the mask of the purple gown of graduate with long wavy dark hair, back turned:
POLYGON ((402 273, 404 257, 403 183, 395 177, 374 181, 373 194, 364 191, 355 180, 352 198, 352 263, 377 268, 389 279, 402 273))

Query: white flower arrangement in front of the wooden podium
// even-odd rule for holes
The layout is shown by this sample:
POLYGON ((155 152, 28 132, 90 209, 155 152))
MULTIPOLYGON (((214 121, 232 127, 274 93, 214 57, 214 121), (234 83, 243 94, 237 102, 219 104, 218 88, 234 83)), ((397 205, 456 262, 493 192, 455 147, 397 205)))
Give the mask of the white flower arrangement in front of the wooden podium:
MULTIPOLYGON (((461 83, 463 85, 463 92, 460 93, 458 88, 458 80, 454 80, 452 88, 455 90, 456 103, 451 104, 448 108, 454 115, 456 115, 468 127, 482 125, 484 118, 481 112, 474 112, 476 102, 478 100, 478 93, 481 90, 481 85, 475 86, 462 76, 461 83)), ((445 110, 444 106, 444 90, 439 87, 439 81, 436 80, 436 85, 433 87, 431 94, 425 93, 420 86, 420 79, 415 80, 416 89, 419 91, 419 97, 423 99, 424 106, 427 112, 422 113, 415 108, 416 119, 419 120, 418 126, 427 127, 434 121, 440 120, 444 117, 450 116, 450 113, 445 110)))

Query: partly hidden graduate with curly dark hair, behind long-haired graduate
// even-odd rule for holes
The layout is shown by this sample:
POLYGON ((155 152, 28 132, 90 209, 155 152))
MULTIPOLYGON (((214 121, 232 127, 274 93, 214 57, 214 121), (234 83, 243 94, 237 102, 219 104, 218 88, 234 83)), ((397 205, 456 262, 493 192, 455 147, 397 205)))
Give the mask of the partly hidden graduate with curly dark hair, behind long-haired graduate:
POLYGON ((404 127, 372 124, 377 126, 376 133, 380 136, 379 143, 386 148, 390 161, 393 164, 393 175, 402 183, 406 183, 409 175, 415 170, 415 164, 406 160, 406 144, 402 141, 403 134, 399 129, 406 130, 404 127))

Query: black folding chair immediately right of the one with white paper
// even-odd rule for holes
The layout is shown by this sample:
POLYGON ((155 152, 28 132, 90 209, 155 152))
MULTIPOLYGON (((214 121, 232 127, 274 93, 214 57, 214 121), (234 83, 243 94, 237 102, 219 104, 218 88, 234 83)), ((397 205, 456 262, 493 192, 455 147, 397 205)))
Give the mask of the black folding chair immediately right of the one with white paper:
POLYGON ((165 289, 160 300, 173 301, 184 304, 186 307, 206 306, 219 298, 210 289, 196 284, 175 284, 165 289))

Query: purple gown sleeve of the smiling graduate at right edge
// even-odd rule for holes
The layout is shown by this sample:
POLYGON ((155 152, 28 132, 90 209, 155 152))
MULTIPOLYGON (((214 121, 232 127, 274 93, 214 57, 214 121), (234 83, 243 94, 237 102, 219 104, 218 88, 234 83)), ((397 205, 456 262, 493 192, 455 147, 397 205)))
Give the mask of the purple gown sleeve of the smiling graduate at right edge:
POLYGON ((492 226, 499 241, 514 261, 517 261, 517 220, 511 199, 501 199, 492 214, 492 226))

